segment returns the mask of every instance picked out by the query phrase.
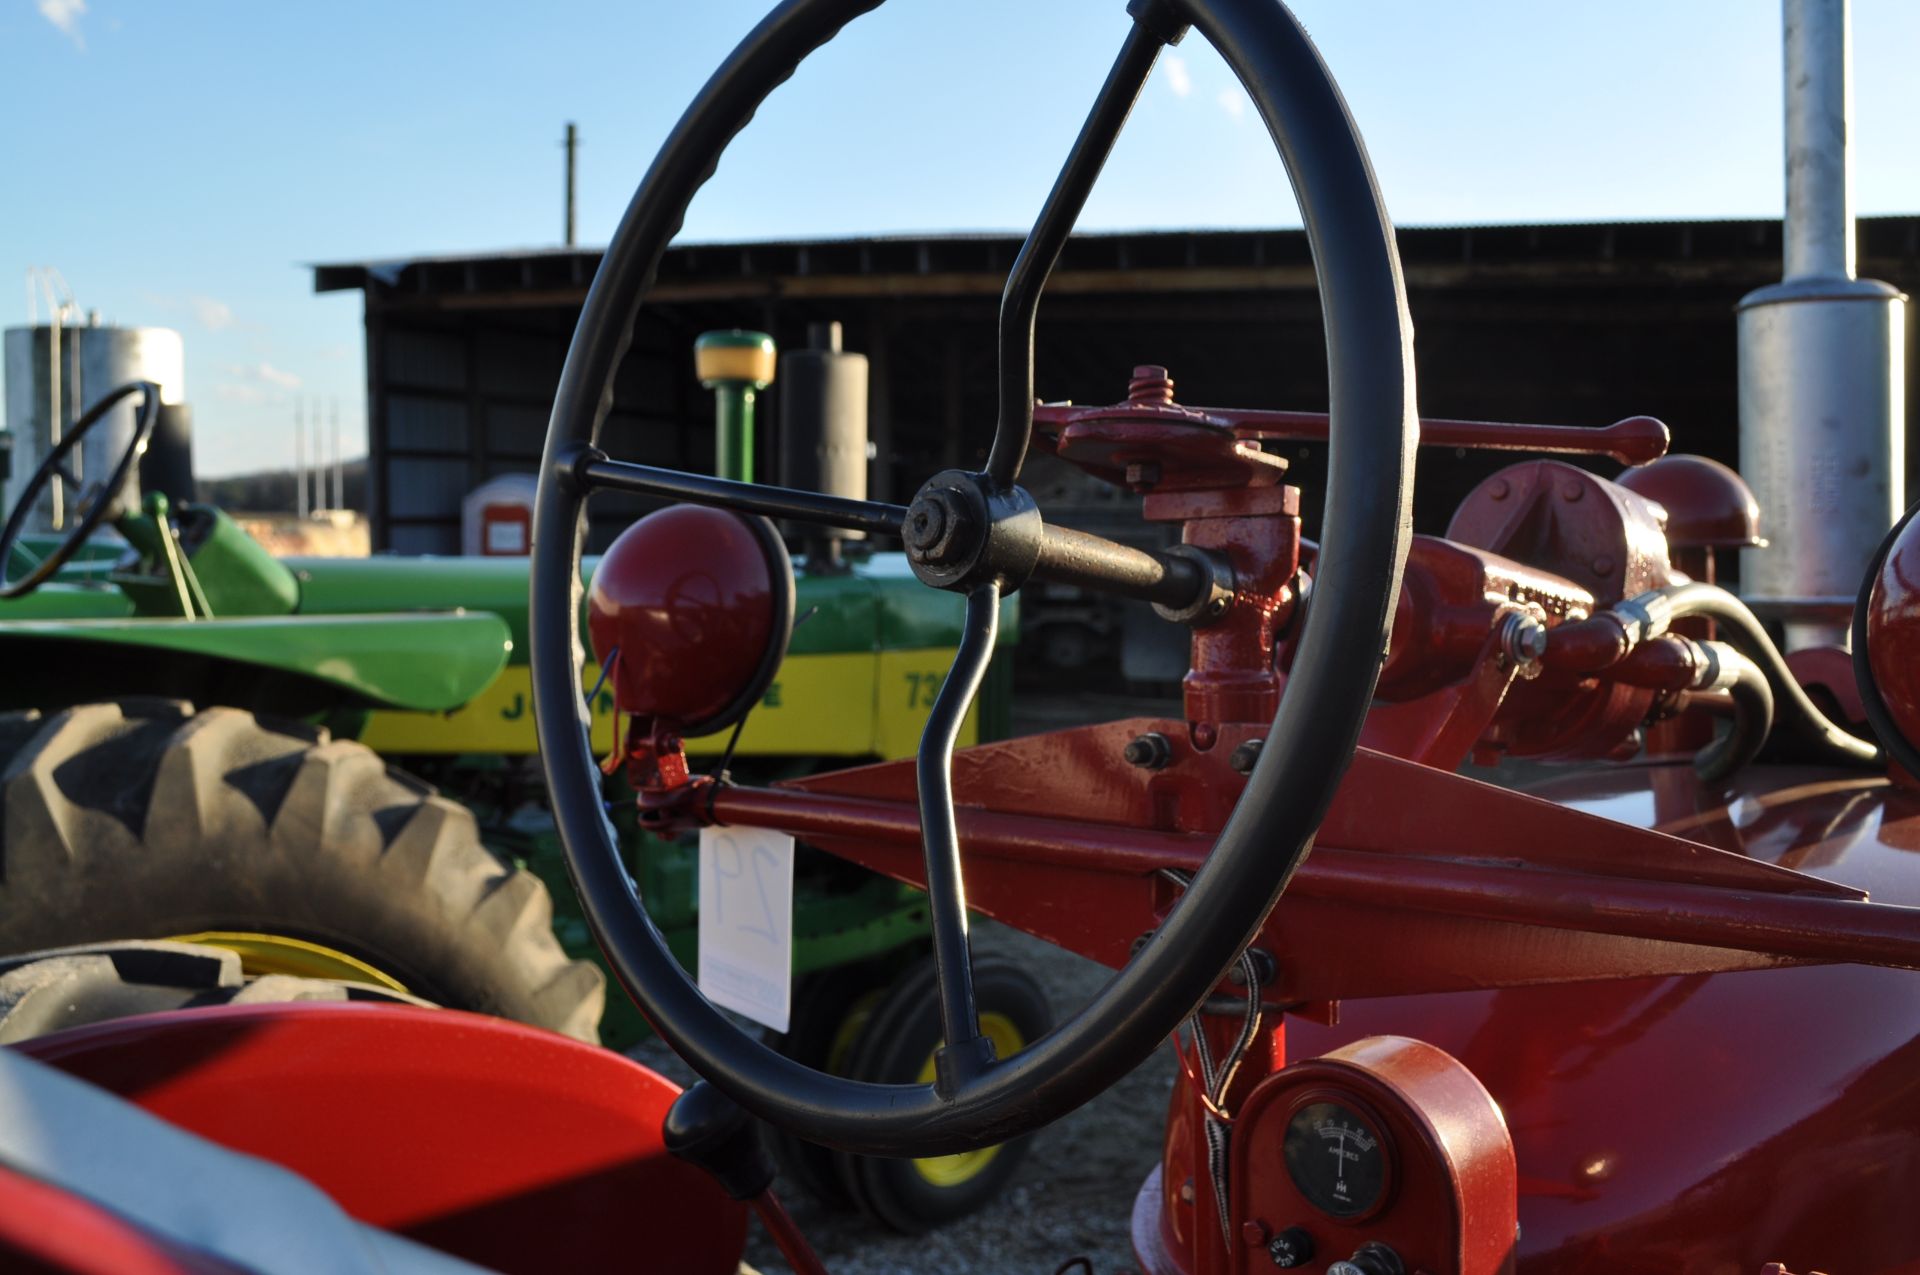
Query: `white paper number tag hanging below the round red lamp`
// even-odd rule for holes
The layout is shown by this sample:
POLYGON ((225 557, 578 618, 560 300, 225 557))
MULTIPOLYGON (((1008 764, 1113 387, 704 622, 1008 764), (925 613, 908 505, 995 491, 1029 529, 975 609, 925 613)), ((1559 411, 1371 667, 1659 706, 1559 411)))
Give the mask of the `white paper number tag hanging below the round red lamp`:
POLYGON ((701 828, 701 972, 707 998, 774 1031, 793 993, 793 837, 701 828))

